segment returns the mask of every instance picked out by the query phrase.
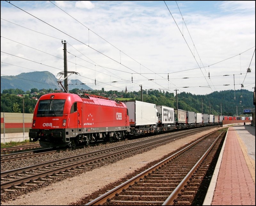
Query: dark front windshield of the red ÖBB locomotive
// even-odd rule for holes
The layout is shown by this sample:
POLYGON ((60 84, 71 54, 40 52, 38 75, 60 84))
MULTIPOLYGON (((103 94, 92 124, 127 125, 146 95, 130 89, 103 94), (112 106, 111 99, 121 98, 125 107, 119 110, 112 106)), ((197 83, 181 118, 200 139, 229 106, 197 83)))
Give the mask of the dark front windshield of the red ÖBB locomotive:
POLYGON ((40 100, 37 115, 39 116, 60 116, 63 115, 65 99, 40 100))

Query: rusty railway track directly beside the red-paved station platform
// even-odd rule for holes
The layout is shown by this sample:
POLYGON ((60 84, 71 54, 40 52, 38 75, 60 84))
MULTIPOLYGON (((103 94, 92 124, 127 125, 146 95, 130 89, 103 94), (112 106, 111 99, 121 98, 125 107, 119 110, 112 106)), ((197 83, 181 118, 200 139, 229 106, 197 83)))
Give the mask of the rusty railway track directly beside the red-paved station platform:
POLYGON ((222 140, 223 132, 217 138, 215 132, 86 205, 193 205, 222 140))

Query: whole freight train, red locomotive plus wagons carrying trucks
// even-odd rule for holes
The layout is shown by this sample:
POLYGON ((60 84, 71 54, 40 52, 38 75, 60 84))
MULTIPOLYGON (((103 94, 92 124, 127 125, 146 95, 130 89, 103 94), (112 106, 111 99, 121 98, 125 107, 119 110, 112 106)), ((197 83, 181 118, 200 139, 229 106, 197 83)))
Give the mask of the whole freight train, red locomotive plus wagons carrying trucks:
MULTIPOLYGON (((222 120, 222 119, 221 119, 222 120)), ((148 133, 219 124, 220 117, 141 101, 80 93, 49 93, 38 100, 29 141, 42 147, 76 147, 148 133)))

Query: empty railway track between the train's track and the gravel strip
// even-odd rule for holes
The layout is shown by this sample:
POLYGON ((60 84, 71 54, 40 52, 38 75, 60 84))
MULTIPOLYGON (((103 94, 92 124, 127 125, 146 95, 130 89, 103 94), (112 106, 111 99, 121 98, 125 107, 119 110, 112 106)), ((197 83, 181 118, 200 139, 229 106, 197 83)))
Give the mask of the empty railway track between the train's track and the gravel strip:
POLYGON ((158 137, 139 141, 120 147, 113 147, 25 168, 4 171, 1 172, 1 193, 13 192, 17 189, 25 189, 26 187, 51 181, 51 179, 63 177, 79 170, 118 160, 124 156, 132 155, 135 151, 143 151, 145 149, 156 147, 159 144, 170 141, 172 138, 175 139, 178 136, 184 136, 195 132, 198 132, 198 129, 185 131, 185 133, 182 132, 180 134, 169 134, 168 136, 161 138, 158 137))

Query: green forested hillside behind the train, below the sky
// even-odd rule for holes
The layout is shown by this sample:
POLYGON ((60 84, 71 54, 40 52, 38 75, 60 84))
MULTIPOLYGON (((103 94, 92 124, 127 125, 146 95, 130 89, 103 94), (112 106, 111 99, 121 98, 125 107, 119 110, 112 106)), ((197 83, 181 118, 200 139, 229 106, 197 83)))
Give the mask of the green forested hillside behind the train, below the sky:
MULTIPOLYGON (((32 91, 32 90, 31 90, 32 91)), ((78 89, 70 90, 72 92, 79 92, 78 89)), ((20 111, 23 112, 23 98, 17 96, 18 93, 24 93, 24 112, 32 113, 36 105, 37 100, 31 99, 32 96, 40 97, 44 93, 38 95, 26 94, 24 91, 16 90, 4 90, 1 93, 1 112, 14 112, 14 104, 17 103, 20 111), (10 94, 11 93, 11 94, 10 94)), ((44 90, 47 93, 47 90, 44 90)), ((53 92, 53 90, 48 92, 53 92)), ((111 99, 121 100, 139 100, 141 101, 140 91, 125 92, 125 91, 104 91, 101 90, 90 91, 91 94, 109 97, 111 99)), ((194 111, 214 115, 243 115, 243 108, 255 107, 253 105, 253 92, 248 90, 226 90, 226 91, 215 91, 207 95, 194 95, 191 93, 181 92, 178 96, 178 108, 186 111, 194 111), (236 92, 236 93, 235 93, 236 92), (236 99, 234 98, 236 95, 236 99), (241 97, 242 95, 242 97, 241 97), (240 104, 241 101, 241 104, 240 104), (203 104, 202 104, 203 103, 203 104)), ((168 91, 158 90, 143 90, 143 101, 154 103, 156 105, 164 105, 167 107, 176 108, 176 96, 174 93, 168 91)), ((17 108, 15 108, 17 110, 17 108)))

